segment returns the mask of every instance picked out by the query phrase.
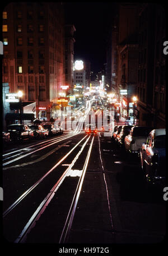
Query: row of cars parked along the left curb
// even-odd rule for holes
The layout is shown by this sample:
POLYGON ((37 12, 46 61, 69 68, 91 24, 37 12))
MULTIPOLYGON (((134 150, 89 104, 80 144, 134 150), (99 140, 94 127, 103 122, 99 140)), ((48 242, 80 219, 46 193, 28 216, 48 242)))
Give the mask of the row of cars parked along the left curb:
POLYGON ((48 136, 63 134, 63 128, 60 125, 22 125, 13 124, 7 127, 3 132, 3 141, 22 141, 27 139, 40 139, 48 136))

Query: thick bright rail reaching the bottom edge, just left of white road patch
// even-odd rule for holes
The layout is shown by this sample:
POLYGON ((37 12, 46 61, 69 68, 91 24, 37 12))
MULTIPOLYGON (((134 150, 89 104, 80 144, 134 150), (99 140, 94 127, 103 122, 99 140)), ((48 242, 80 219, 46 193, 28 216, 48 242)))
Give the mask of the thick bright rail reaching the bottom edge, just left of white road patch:
MULTIPOLYGON (((86 136, 83 139, 85 139, 85 138, 86 138, 86 136)), ((72 163, 69 164, 69 167, 66 169, 66 171, 64 171, 63 175, 59 178, 57 183, 50 190, 49 194, 45 197, 43 202, 41 202, 41 204, 36 209, 34 214, 32 214, 30 220, 26 223, 26 225, 25 225, 24 229, 22 230, 21 234, 15 240, 15 243, 24 243, 24 241, 26 240, 27 234, 31 231, 31 228, 35 226, 35 222, 39 220, 41 214, 45 211, 45 208, 47 207, 47 205, 52 200, 53 196, 55 195, 55 192, 58 190, 58 188, 60 187, 60 185, 62 184, 62 182, 66 178, 68 171, 71 170, 72 166, 77 161, 77 159, 80 156, 80 154, 83 152, 83 149, 86 147, 87 142, 88 142, 89 139, 90 139, 90 136, 87 138, 85 143, 83 143, 82 148, 76 154, 76 157, 74 157, 72 163)), ((81 141, 80 141, 80 143, 81 143, 81 141)))

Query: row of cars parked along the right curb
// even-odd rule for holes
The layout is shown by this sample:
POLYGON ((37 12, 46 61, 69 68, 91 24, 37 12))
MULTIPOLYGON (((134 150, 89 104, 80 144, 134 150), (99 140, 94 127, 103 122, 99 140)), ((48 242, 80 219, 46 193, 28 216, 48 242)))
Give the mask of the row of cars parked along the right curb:
POLYGON ((115 126, 111 141, 118 143, 129 159, 139 157, 139 163, 151 184, 166 181, 166 129, 146 126, 115 126))

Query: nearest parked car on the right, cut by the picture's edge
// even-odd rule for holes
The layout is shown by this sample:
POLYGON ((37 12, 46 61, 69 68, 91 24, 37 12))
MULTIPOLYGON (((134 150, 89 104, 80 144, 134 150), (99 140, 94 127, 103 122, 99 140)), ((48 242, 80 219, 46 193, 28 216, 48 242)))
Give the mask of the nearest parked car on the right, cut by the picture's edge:
POLYGON ((166 181, 166 129, 155 129, 142 144, 141 167, 151 184, 164 184, 166 181))

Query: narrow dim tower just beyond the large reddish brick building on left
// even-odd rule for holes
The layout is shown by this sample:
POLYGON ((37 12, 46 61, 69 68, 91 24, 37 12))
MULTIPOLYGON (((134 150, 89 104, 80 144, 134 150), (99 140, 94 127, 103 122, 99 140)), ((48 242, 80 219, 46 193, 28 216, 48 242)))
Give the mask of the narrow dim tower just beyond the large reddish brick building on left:
POLYGON ((76 31, 74 25, 66 25, 65 26, 65 74, 66 74, 66 85, 69 86, 69 93, 73 93, 73 44, 75 42, 73 38, 73 34, 76 31))

